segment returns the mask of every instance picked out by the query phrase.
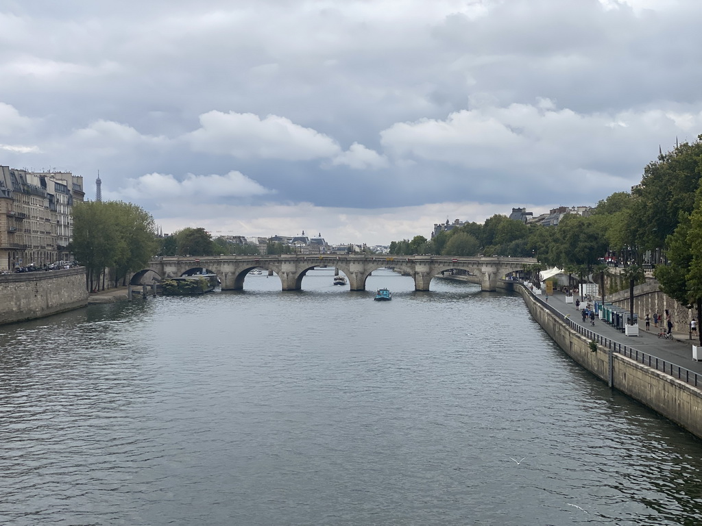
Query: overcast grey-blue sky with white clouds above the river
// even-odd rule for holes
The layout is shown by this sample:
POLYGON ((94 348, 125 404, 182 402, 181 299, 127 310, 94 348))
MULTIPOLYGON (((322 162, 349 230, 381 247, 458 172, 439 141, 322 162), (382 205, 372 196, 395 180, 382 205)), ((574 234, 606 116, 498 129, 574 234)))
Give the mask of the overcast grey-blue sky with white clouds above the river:
POLYGON ((165 232, 430 236, 702 133, 700 0, 0 0, 0 164, 165 232))

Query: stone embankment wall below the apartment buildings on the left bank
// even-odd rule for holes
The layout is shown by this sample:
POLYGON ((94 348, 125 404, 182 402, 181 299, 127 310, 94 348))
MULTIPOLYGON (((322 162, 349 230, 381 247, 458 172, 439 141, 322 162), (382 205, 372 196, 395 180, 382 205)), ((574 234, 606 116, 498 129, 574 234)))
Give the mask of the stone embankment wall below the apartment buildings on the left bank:
POLYGON ((88 304, 84 267, 0 275, 0 325, 88 304))

